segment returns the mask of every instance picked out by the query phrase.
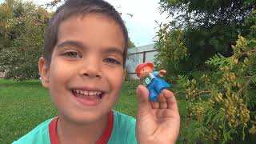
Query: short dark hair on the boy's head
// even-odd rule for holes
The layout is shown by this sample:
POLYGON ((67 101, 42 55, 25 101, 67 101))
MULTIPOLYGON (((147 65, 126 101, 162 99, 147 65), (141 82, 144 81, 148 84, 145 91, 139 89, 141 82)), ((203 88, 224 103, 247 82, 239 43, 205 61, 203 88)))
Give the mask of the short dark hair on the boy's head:
POLYGON ((103 0, 67 0, 58 8, 46 28, 43 57, 46 58, 47 66, 50 66, 54 46, 58 40, 58 27, 60 24, 74 15, 85 15, 90 13, 104 14, 107 17, 114 19, 114 21, 118 22, 121 26, 125 38, 125 50, 123 54, 123 66, 125 66, 128 46, 128 32, 126 26, 118 11, 114 9, 114 6, 111 6, 110 3, 103 0))

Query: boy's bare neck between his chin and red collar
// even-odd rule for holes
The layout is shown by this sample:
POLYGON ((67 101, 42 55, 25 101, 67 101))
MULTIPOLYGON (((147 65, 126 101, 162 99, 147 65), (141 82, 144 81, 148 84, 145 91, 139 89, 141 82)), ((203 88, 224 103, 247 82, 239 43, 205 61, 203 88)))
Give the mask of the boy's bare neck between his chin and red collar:
POLYGON ((65 143, 95 143, 106 128, 108 116, 96 122, 80 125, 59 116, 57 124, 58 141, 65 143))

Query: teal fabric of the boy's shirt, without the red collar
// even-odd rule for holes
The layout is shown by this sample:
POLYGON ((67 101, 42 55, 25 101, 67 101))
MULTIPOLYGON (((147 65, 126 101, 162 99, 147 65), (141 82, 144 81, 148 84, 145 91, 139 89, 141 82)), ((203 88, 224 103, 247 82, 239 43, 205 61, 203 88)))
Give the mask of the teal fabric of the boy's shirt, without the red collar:
MULTIPOLYGON (((113 110, 114 123, 108 144, 136 144, 136 120, 126 114, 113 110)), ((49 124, 53 118, 42 122, 28 134, 19 138, 13 144, 50 144, 49 124)))

